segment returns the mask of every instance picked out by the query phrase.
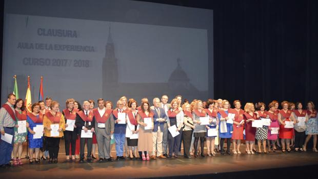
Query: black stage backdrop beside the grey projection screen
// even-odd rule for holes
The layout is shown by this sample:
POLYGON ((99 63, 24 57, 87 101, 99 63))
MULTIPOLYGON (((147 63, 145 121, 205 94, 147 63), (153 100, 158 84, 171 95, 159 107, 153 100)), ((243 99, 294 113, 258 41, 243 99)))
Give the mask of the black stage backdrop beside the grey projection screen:
POLYGON ((213 9, 215 98, 318 103, 318 1, 147 2, 213 9))

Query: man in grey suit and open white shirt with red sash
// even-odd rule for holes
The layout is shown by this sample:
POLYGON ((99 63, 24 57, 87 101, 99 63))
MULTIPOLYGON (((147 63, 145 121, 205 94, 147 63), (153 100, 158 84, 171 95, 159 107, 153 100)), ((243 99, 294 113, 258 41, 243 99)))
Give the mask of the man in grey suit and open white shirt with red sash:
POLYGON ((95 133, 98 144, 98 157, 100 162, 112 161, 110 157, 111 134, 114 133, 115 121, 111 109, 105 108, 102 98, 97 100, 98 108, 93 110, 95 117, 95 133))

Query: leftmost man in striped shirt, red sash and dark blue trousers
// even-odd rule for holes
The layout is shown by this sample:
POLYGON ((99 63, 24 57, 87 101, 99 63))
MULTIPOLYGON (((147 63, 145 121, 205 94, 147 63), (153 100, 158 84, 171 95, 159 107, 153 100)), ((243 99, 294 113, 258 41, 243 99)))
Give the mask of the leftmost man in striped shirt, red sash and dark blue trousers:
POLYGON ((14 138, 14 125, 15 125, 15 113, 13 105, 15 104, 16 97, 14 94, 8 95, 8 102, 5 103, 0 109, 0 131, 1 138, 5 137, 5 134, 12 135, 11 143, 5 141, 0 142, 0 166, 4 168, 10 167, 11 153, 13 150, 13 138, 14 138))

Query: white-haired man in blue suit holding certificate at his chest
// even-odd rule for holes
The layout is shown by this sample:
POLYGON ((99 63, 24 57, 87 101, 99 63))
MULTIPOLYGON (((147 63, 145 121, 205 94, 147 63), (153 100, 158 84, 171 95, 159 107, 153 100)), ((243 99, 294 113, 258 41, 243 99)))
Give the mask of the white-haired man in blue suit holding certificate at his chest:
POLYGON ((112 115, 115 122, 114 138, 116 143, 116 160, 125 160, 124 157, 124 145, 126 140, 126 110, 124 103, 121 100, 117 101, 117 108, 113 110, 112 115))

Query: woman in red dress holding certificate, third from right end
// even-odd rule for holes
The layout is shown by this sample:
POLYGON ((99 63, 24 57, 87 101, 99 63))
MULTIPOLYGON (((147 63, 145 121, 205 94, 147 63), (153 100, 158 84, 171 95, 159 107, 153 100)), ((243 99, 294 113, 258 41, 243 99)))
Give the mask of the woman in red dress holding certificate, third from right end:
POLYGON ((288 102, 282 102, 283 109, 280 110, 278 114, 278 120, 280 122, 280 134, 279 137, 281 138, 282 142, 282 152, 285 152, 286 148, 287 151, 290 152, 290 140, 292 138, 292 130, 294 128, 294 124, 296 120, 292 114, 292 111, 288 109, 288 102))

